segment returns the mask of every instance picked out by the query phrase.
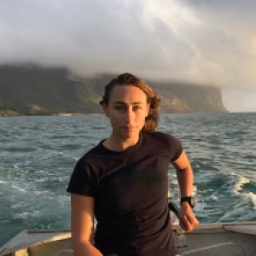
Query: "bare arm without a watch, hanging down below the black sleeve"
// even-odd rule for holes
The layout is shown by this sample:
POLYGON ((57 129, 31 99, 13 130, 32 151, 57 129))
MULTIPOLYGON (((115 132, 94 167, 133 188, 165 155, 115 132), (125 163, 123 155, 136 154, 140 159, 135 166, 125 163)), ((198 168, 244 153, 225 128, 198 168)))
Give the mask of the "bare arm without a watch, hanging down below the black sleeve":
POLYGON ((71 195, 71 232, 75 256, 102 256, 102 253, 92 245, 94 198, 71 195))

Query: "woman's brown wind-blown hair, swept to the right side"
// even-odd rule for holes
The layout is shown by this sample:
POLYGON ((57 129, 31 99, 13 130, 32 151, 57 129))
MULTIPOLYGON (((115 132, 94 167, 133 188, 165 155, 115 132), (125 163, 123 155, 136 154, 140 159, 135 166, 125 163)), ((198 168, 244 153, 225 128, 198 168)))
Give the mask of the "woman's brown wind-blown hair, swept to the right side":
POLYGON ((155 131, 159 122, 160 98, 157 93, 148 86, 142 79, 138 79, 131 73, 122 73, 117 78, 112 79, 106 86, 102 97, 101 105, 108 105, 111 91, 114 86, 133 85, 143 90, 150 104, 148 116, 145 119, 143 131, 155 131))

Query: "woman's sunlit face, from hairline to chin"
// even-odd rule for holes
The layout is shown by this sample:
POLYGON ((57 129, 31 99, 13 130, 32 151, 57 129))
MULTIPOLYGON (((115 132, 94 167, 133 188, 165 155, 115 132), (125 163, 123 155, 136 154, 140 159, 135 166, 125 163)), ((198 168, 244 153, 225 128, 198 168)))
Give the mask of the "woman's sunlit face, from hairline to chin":
POLYGON ((113 87, 104 112, 119 139, 137 138, 148 116, 149 103, 143 90, 133 85, 113 87))

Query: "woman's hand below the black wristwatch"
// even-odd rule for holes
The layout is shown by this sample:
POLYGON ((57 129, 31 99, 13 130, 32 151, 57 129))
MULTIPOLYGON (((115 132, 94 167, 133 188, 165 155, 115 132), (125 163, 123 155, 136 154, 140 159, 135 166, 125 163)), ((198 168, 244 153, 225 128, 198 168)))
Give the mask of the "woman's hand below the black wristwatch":
POLYGON ((182 203, 179 221, 181 228, 187 232, 194 230, 199 225, 188 202, 182 203))

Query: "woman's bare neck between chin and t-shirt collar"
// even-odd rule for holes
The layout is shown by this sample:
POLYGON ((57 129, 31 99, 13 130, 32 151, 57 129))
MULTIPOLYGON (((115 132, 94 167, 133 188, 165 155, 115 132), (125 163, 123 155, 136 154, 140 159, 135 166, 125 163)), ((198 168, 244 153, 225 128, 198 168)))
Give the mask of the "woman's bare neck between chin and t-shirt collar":
POLYGON ((119 137, 114 137, 112 134, 108 139, 103 143, 103 145, 113 151, 123 151, 127 148, 130 148, 137 144, 139 140, 139 135, 137 137, 131 137, 126 139, 121 139, 119 137))

